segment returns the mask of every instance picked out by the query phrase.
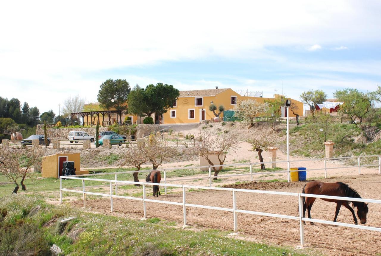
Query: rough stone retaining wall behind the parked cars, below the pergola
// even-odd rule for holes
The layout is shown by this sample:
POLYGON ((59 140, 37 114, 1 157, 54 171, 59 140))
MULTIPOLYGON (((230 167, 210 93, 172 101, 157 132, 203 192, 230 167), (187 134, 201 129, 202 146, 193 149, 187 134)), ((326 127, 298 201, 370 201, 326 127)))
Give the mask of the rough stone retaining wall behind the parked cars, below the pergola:
MULTIPOLYGON (((86 128, 48 128, 48 138, 61 138, 66 139, 69 135, 69 132, 74 130, 80 130, 87 132, 89 135, 95 137, 95 126, 94 127, 86 127, 86 128)), ((107 126, 99 127, 99 132, 107 131, 107 126)), ((160 126, 158 124, 139 124, 136 131, 136 138, 143 138, 147 135, 150 135, 151 132, 156 132, 160 130, 160 126)), ((37 124, 36 134, 44 134, 44 126, 43 124, 37 124)))

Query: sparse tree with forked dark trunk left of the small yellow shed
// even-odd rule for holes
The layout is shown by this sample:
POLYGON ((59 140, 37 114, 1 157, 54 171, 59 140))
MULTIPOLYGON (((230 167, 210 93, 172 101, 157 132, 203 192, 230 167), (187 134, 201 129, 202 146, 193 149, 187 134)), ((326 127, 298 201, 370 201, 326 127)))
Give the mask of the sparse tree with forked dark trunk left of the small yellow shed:
POLYGON ((24 180, 30 177, 31 167, 41 163, 43 152, 41 148, 27 148, 25 151, 13 148, 0 150, 0 173, 16 185, 13 193, 19 190, 18 179, 20 178, 22 190, 26 190, 24 180))

